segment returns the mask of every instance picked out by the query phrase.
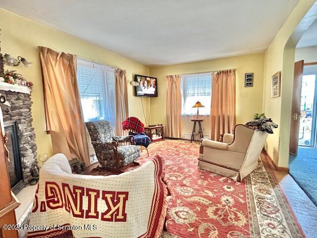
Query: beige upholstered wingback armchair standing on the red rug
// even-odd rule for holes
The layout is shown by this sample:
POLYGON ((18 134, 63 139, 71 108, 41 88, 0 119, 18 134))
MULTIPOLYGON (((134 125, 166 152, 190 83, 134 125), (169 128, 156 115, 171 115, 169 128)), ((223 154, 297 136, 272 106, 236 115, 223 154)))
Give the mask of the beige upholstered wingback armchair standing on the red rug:
POLYGON ((267 132, 238 124, 223 142, 202 140, 198 168, 241 181, 258 166, 267 132))

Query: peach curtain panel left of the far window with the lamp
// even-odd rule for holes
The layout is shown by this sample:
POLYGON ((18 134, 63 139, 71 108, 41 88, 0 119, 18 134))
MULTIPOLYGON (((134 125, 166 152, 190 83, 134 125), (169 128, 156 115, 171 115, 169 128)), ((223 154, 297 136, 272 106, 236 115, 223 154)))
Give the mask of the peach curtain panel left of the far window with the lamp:
POLYGON ((181 136, 180 75, 166 76, 166 136, 181 136))

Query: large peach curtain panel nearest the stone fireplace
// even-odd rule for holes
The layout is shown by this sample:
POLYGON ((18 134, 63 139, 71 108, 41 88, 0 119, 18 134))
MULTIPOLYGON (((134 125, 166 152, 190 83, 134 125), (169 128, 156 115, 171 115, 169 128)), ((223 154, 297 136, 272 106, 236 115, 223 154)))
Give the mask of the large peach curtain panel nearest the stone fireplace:
POLYGON ((90 165, 86 127, 77 84, 77 57, 38 47, 42 63, 46 118, 53 152, 90 165))

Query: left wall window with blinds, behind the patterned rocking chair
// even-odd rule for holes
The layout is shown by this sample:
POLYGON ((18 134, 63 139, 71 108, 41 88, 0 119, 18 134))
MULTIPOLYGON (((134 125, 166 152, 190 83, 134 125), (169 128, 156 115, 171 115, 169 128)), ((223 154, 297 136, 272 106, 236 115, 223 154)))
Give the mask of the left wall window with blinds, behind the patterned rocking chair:
POLYGON ((108 120, 115 128, 114 68, 78 59, 77 80, 85 121, 108 120))

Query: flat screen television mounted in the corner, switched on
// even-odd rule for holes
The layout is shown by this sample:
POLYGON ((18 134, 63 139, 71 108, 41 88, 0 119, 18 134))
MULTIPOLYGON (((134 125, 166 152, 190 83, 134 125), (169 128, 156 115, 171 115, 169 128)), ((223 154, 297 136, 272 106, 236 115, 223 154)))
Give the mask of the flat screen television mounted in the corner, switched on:
POLYGON ((149 76, 135 75, 137 97, 158 97, 158 79, 149 76))

